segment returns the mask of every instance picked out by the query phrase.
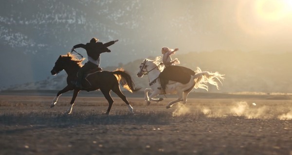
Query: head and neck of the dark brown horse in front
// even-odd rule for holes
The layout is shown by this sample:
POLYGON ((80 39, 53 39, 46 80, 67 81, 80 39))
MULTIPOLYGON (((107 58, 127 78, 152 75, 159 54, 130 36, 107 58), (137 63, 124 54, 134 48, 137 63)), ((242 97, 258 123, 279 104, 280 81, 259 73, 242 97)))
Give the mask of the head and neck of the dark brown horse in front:
POLYGON ((68 53, 67 55, 60 55, 57 61, 55 62, 55 66, 51 70, 51 74, 55 75, 62 71, 63 69, 66 70, 68 66, 71 66, 71 68, 73 68, 74 66, 76 68, 80 68, 81 62, 83 60, 84 59, 78 60, 74 56, 70 55, 70 53, 68 53))

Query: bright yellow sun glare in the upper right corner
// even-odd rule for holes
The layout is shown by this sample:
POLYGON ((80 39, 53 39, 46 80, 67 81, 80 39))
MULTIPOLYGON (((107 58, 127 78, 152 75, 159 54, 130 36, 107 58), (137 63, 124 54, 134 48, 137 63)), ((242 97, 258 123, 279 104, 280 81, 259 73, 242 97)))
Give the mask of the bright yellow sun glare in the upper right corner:
POLYGON ((247 34, 272 36, 292 23, 292 0, 241 0, 236 18, 247 34))

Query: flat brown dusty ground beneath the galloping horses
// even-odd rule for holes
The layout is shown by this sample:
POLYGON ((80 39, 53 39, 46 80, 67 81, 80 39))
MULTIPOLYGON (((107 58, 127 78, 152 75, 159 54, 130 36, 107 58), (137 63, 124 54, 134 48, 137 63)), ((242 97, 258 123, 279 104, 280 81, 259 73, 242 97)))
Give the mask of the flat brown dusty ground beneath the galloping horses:
MULTIPOLYGON (((162 96, 163 97, 163 96, 162 96)), ((292 155, 292 101, 188 99, 165 109, 128 98, 0 95, 1 155, 292 155)))

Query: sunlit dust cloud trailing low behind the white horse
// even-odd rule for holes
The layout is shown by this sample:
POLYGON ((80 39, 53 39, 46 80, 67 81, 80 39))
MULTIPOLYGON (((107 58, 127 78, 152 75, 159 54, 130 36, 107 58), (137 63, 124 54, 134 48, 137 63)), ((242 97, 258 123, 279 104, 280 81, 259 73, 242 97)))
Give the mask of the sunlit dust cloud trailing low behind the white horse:
POLYGON ((172 116, 183 116, 201 112, 209 118, 226 118, 230 116, 244 117, 246 119, 279 119, 292 120, 292 107, 277 107, 276 105, 248 103, 246 101, 234 102, 229 105, 179 105, 172 116), (287 111, 289 110, 290 111, 287 111))

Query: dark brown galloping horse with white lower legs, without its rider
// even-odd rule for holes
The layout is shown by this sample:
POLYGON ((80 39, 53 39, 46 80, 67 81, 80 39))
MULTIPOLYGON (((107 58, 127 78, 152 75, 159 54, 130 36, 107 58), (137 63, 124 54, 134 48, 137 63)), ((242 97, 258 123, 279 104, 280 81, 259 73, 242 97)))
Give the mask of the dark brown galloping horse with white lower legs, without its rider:
MULTIPOLYGON (((67 86, 57 93, 55 99, 51 104, 51 107, 55 106, 59 96, 62 93, 74 90, 70 108, 67 110, 68 114, 72 113, 73 104, 80 89, 71 84, 71 81, 77 78, 77 71, 81 68, 81 62, 83 60, 84 59, 77 59, 74 55, 71 55, 70 53, 67 53, 67 55, 59 56, 51 73, 52 75, 56 75, 60 71, 65 70, 68 74, 67 86)), ((115 71, 93 71, 85 75, 85 79, 82 81, 82 86, 84 86, 84 88, 82 88, 81 90, 93 91, 100 89, 109 102, 109 107, 106 114, 110 113, 110 108, 113 103, 113 100, 110 96, 110 90, 112 90, 128 105, 130 112, 133 113, 133 108, 128 103, 126 96, 121 92, 119 83, 130 92, 135 92, 140 89, 135 86, 131 76, 127 71, 124 71, 123 69, 117 69, 115 71)))

